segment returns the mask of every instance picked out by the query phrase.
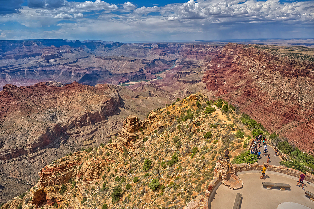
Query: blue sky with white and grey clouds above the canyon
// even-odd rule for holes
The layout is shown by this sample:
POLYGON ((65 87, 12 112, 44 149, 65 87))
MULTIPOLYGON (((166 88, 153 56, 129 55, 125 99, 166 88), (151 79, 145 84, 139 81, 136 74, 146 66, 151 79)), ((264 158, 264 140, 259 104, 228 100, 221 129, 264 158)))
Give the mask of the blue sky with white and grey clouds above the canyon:
POLYGON ((314 38, 314 1, 0 0, 0 40, 314 38))

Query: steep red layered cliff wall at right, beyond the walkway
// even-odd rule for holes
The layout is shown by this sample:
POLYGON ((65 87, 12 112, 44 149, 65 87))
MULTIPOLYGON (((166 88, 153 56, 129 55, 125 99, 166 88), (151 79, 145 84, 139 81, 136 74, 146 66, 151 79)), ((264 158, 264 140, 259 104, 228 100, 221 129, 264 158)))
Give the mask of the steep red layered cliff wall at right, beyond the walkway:
POLYGON ((302 150, 314 149, 313 51, 229 43, 209 62, 206 89, 228 99, 287 137, 302 150))

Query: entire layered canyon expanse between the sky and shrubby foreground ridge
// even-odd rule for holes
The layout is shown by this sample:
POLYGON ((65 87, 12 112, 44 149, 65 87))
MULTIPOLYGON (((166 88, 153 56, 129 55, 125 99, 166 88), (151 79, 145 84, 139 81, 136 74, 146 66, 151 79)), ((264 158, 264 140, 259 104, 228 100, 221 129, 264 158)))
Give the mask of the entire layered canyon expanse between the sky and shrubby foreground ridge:
POLYGON ((314 49, 302 46, 0 41, 0 169, 34 183, 34 168, 105 143, 127 115, 194 92, 224 98, 309 152, 313 78, 314 49))

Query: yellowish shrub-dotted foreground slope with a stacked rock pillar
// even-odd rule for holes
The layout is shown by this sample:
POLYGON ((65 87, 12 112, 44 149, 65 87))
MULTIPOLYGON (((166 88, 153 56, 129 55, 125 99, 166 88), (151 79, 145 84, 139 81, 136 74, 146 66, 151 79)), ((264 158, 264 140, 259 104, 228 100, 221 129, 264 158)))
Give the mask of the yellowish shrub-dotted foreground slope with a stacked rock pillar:
POLYGON ((239 116, 205 114, 207 100, 192 94, 142 121, 127 117, 112 143, 53 161, 39 171, 36 186, 2 208, 186 208, 200 201, 219 155, 229 147, 235 156, 243 144, 226 128, 239 116))

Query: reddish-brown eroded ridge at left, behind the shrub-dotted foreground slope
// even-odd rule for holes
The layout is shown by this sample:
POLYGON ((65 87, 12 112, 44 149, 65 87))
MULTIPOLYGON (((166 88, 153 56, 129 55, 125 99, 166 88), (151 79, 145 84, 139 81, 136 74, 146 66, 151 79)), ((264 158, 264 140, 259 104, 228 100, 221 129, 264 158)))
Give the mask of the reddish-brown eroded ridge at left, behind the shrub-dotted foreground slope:
POLYGON ((52 160, 108 141, 127 115, 145 117, 151 108, 171 104, 124 87, 76 82, 7 84, 0 98, 1 174, 28 183, 52 160))

